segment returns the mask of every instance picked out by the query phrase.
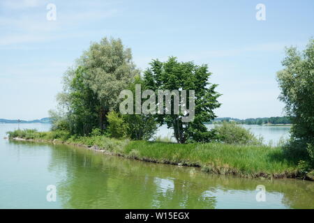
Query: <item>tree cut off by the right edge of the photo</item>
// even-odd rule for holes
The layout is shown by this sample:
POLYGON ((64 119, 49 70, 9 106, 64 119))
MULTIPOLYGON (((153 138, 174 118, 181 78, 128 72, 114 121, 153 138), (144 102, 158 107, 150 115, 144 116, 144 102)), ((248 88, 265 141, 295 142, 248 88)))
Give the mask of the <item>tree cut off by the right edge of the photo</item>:
MULTIPOLYGON (((284 69, 277 72, 281 88, 279 99, 285 102, 285 111, 292 123, 292 144, 308 151, 308 160, 314 166, 314 39, 303 52, 296 47, 286 49, 282 62, 284 69)), ((304 161, 305 162, 305 161, 304 161)), ((303 162, 300 162, 304 166, 303 162)))

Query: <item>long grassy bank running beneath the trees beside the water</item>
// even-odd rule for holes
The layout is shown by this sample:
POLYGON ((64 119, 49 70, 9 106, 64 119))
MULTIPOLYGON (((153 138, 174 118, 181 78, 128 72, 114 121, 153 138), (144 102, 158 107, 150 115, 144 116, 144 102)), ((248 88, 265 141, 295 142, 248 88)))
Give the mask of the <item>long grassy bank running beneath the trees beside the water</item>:
POLYGON ((29 139, 86 146, 98 151, 136 160, 201 167, 215 174, 242 177, 297 178, 297 164, 285 159, 281 147, 240 146, 220 143, 174 144, 157 141, 130 141, 105 136, 74 137, 66 132, 8 132, 10 139, 29 139))

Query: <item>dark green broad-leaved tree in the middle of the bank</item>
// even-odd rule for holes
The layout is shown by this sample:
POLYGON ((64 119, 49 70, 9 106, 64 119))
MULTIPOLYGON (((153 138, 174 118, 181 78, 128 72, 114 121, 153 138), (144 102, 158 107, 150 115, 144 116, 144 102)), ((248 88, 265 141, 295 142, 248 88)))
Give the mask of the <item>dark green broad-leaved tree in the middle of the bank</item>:
MULTIPOLYGON (((157 93, 158 90, 194 90, 195 91, 195 118, 191 122, 183 122, 186 116, 174 114, 157 114, 158 123, 167 124, 173 128, 174 137, 179 143, 186 141, 210 141, 215 137, 214 131, 207 130, 204 122, 213 120, 216 116, 214 109, 220 107, 217 101, 219 93, 215 91, 216 84, 211 84, 208 79, 211 75, 207 65, 196 66, 193 62, 179 63, 176 57, 170 57, 166 62, 153 60, 151 67, 144 72, 144 83, 147 89, 157 93)), ((182 91, 181 91, 182 92, 182 91)), ((191 97, 192 95, 188 95, 191 97)), ((174 105, 174 97, 170 97, 174 105)), ((157 101, 158 102, 158 101, 157 101)), ((187 102, 187 107, 188 107, 187 102)))

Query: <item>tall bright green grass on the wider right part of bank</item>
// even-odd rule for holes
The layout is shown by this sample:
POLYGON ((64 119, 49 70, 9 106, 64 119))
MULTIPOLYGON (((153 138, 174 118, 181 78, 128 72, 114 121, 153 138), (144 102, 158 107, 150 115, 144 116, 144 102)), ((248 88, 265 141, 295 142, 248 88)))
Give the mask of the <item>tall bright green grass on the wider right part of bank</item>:
POLYGON ((197 165, 207 171, 223 169, 230 174, 284 174, 286 171, 292 173, 296 167, 281 156, 280 147, 131 141, 125 152, 131 150, 139 151, 139 156, 147 159, 197 165))

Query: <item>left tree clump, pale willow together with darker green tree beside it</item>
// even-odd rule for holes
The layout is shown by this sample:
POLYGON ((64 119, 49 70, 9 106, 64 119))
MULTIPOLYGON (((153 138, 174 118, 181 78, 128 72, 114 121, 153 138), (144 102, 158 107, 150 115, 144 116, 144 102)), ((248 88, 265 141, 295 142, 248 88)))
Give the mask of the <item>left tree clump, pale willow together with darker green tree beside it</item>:
POLYGON ((129 48, 120 39, 103 38, 92 43, 63 77, 59 111, 51 112, 53 130, 89 135, 95 128, 105 130, 107 114, 117 109, 119 93, 139 73, 129 48))

